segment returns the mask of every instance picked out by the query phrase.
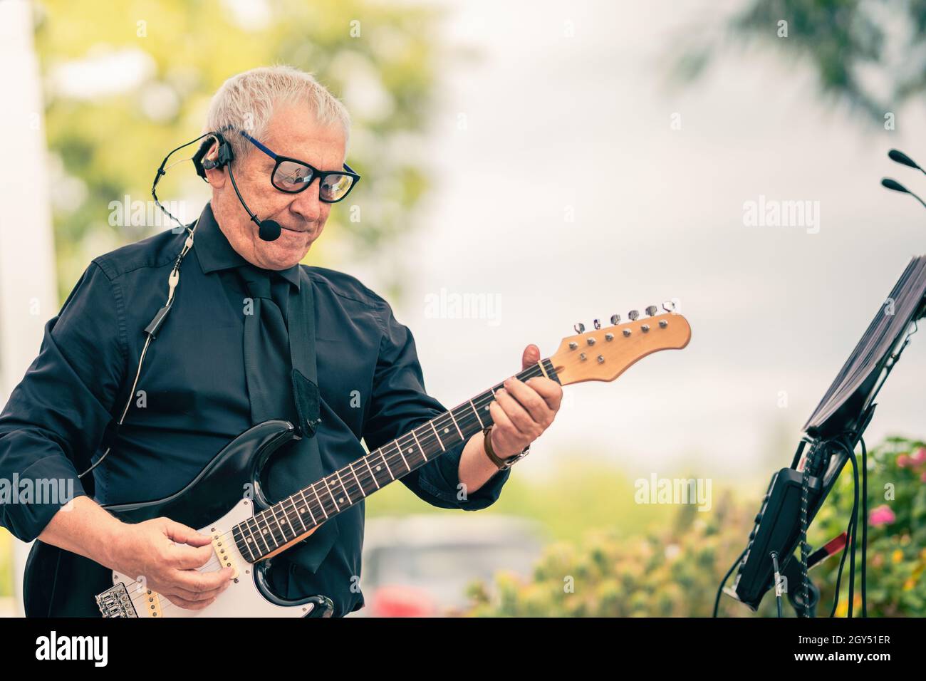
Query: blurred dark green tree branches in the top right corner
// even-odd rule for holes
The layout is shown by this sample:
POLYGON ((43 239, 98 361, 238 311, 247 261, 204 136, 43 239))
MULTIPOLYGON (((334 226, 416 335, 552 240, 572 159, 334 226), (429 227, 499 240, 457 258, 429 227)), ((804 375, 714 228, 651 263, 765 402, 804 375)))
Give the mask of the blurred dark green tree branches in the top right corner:
POLYGON ((748 0, 724 37, 690 35, 673 71, 684 81, 727 44, 755 42, 809 61, 823 95, 872 120, 926 89, 926 0, 748 0))

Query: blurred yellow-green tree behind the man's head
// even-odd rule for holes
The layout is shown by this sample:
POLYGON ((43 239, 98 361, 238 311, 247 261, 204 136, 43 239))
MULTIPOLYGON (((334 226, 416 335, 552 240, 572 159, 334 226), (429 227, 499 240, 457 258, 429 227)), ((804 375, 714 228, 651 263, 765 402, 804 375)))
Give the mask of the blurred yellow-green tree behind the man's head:
MULTIPOLYGON (((363 257, 411 228, 427 189, 415 143, 432 105, 433 10, 368 0, 37 0, 35 7, 62 296, 96 255, 172 226, 159 214, 112 226, 110 203, 126 195, 147 201, 161 158, 200 133, 210 96, 256 66, 314 73, 353 118, 348 158, 364 180, 349 205, 332 211, 312 262, 334 241, 363 257)), ((171 160, 191 154, 184 149, 171 160)), ((162 201, 180 201, 184 221, 208 198, 192 170, 183 164, 158 185, 162 201)), ((389 282, 382 293, 398 295, 396 272, 382 276, 389 282)))

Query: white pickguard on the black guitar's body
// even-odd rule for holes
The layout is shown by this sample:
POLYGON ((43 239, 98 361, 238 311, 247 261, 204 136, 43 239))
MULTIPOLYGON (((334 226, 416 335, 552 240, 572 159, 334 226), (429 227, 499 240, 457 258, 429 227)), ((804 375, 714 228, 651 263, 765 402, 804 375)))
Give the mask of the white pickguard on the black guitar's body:
MULTIPOLYGON (((219 521, 200 528, 199 532, 206 536, 213 536, 216 532, 230 536, 232 527, 250 518, 253 510, 253 502, 249 499, 242 499, 219 521)), ((113 586, 120 583, 125 585, 139 617, 305 617, 312 612, 315 607, 312 603, 281 606, 265 599, 254 583, 254 566, 242 558, 233 541, 223 542, 223 545, 232 552, 233 562, 236 562, 238 566, 238 581, 232 582, 232 585, 219 594, 211 605, 201 610, 188 610, 174 605, 167 598, 155 592, 149 593, 144 582, 136 582, 125 574, 114 572, 113 586)), ((203 571, 217 569, 216 561, 208 562, 204 568, 201 568, 203 571)))

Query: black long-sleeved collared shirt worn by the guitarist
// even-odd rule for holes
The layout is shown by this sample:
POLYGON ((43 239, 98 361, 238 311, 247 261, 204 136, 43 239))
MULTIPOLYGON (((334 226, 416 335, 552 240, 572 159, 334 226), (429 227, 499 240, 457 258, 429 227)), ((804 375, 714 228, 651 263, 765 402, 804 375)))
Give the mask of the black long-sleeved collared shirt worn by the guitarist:
MULTIPOLYGON (((164 304, 185 237, 159 233, 94 259, 84 271, 45 325, 39 356, 0 413, 0 479, 72 481, 74 496, 93 496, 100 504, 163 498, 252 425, 243 357, 246 294, 233 271, 245 261, 206 205, 193 253, 181 265, 173 309, 144 360, 136 387, 144 399, 133 402, 112 451, 94 469, 93 487, 85 489, 77 477, 103 454, 106 427, 119 420, 144 327, 164 304)), ((316 436, 325 474, 362 457, 361 439, 372 451, 446 410, 425 392, 412 334, 381 296, 339 271, 295 265, 279 274, 290 285, 310 281, 314 287, 321 397, 316 436)), ((288 358, 288 348, 280 349, 288 358)), ((496 473, 460 500, 463 448, 448 448, 402 483, 440 508, 491 505, 510 472, 496 473)), ((67 499, 8 501, 0 496, 0 523, 30 541, 67 499)), ((292 563, 286 574, 271 571, 282 596, 324 594, 335 615, 362 607, 364 507, 360 502, 332 518, 339 534, 316 574, 292 563)))

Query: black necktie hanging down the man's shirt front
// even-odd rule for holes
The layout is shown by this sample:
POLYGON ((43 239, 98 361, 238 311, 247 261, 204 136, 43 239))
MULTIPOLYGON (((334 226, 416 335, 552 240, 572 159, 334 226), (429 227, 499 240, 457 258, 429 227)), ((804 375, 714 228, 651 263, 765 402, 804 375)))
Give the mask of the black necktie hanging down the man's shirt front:
MULTIPOLYGON (((285 419, 306 428, 299 417, 294 399, 294 385, 306 404, 306 379, 293 372, 290 339, 284 310, 288 309, 290 283, 276 272, 260 270, 247 264, 239 268, 248 296, 252 298, 251 314, 244 308, 244 375, 251 401, 251 423, 268 419, 285 419), (282 308, 282 309, 281 309, 282 308)), ((311 285, 303 282, 303 285, 311 285)), ((306 295, 305 292, 302 293, 306 295)), ((295 310, 298 313, 298 307, 295 310)), ((314 334, 314 328, 310 328, 314 334)), ((314 426, 313 426, 314 430, 314 426)), ((322 467, 315 438, 304 436, 284 445, 269 460, 264 478, 267 497, 271 501, 295 494, 321 479, 322 467)), ((315 573, 332 549, 339 532, 336 519, 322 523, 318 530, 281 556, 309 572, 315 573)))

